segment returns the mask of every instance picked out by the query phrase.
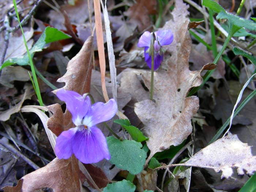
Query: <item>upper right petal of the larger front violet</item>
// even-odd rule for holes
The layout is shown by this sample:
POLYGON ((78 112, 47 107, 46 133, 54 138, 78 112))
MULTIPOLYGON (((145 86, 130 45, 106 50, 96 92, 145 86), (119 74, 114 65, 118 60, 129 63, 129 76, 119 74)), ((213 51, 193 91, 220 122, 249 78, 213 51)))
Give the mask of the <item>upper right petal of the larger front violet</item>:
POLYGON ((117 104, 114 99, 110 99, 107 103, 94 103, 84 117, 83 125, 93 127, 98 123, 110 120, 116 112, 117 104))

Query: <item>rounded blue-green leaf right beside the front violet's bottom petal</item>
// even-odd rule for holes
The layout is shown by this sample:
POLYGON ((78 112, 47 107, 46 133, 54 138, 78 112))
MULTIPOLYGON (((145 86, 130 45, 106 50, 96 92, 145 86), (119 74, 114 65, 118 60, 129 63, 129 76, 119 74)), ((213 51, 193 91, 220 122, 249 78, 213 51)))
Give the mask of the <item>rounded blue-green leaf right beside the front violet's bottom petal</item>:
POLYGON ((131 174, 138 174, 143 170, 147 153, 141 149, 141 143, 134 140, 120 141, 112 136, 107 137, 107 142, 112 164, 131 174))

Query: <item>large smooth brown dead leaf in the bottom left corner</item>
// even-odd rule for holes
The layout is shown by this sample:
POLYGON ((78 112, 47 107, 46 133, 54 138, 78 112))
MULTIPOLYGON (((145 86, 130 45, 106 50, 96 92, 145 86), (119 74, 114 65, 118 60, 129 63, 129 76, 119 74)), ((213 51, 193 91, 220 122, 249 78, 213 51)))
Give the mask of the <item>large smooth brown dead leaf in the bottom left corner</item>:
POLYGON ((39 192, 43 188, 51 188, 54 191, 80 192, 79 167, 77 159, 55 158, 48 165, 23 176, 18 187, 4 187, 6 192, 39 192))

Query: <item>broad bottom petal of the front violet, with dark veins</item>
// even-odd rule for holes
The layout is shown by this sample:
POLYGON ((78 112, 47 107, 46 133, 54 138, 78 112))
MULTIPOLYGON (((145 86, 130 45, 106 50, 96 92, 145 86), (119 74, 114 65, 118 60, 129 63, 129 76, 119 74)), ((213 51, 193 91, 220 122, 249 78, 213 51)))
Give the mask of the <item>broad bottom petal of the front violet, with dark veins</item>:
POLYGON ((97 127, 76 132, 72 138, 72 150, 82 163, 97 163, 111 158, 106 138, 97 127))

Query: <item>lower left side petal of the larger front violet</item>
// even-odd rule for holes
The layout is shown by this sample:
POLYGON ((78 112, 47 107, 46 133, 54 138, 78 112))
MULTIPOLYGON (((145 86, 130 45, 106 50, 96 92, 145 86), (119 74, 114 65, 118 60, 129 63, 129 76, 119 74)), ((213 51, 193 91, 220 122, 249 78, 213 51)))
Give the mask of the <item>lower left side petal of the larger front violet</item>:
POLYGON ((72 139, 78 128, 63 131, 56 139, 55 153, 59 159, 68 159, 73 154, 72 139))

